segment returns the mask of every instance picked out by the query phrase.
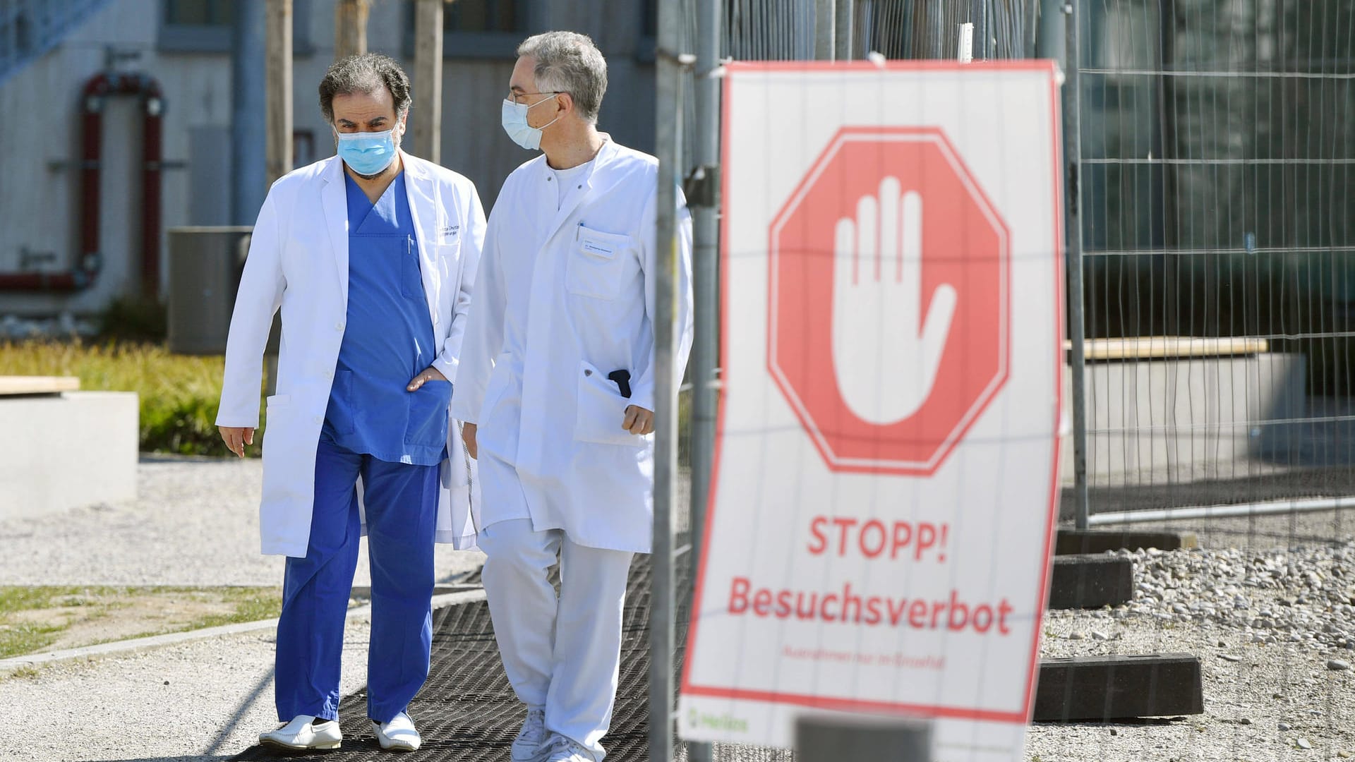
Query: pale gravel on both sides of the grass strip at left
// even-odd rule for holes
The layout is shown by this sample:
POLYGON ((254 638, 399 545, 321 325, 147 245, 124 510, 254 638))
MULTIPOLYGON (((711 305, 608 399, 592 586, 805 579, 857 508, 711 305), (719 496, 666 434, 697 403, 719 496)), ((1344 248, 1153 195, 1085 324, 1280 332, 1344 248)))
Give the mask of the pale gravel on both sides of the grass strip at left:
MULTIPOLYGON (((0 584, 282 583, 259 555, 259 460, 148 456, 137 477, 130 503, 0 521, 0 584)), ((439 546, 438 579, 482 561, 439 546)), ((366 544, 354 584, 370 584, 366 544)), ((369 622, 348 621, 346 696, 366 683, 369 622)), ((272 655, 263 630, 0 679, 0 759, 225 759, 275 727, 272 655)))

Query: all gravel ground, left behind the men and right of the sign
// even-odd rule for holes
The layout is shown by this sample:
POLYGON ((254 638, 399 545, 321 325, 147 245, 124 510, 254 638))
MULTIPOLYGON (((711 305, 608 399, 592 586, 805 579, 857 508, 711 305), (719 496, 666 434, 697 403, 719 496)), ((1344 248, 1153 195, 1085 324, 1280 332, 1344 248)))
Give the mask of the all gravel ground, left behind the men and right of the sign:
MULTIPOLYGON (((276 584, 280 561, 257 555, 259 479, 257 461, 142 462, 134 503, 0 522, 0 584, 276 584)), ((1355 514, 1153 527, 1195 532, 1205 549, 1129 553, 1135 601, 1051 611, 1042 654, 1194 654, 1205 715, 1035 725, 1027 759, 1355 758, 1355 670, 1343 668, 1355 664, 1355 514)), ((439 579, 480 561, 443 549, 439 579)), ((350 622, 346 694, 363 683, 366 633, 350 622)), ((272 727, 271 664, 271 633, 241 635, 5 679, 0 758, 225 759, 272 727)))

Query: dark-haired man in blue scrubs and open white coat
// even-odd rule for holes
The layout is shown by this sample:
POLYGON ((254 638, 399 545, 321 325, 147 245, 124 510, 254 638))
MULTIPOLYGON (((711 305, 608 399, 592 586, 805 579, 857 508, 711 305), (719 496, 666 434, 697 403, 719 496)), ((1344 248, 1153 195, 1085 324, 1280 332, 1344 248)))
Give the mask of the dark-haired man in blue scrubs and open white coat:
MULTIPOLYGON (((321 161, 312 172, 324 183, 316 186, 310 217, 302 201, 295 202, 286 222, 293 232, 279 237, 286 247, 298 237, 302 243, 295 244, 294 254, 290 248, 282 252, 276 278, 289 290, 298 287, 302 278, 314 281, 312 289, 341 286, 329 274, 332 263, 343 260, 333 256, 335 230, 346 230, 347 273, 340 274, 347 278, 346 319, 336 323, 343 336, 332 362, 327 359, 335 357, 329 340, 316 340, 298 353, 306 355, 305 372, 333 372, 314 450, 309 542, 305 557, 289 552, 286 561, 276 652, 278 719, 285 724, 259 740, 286 750, 339 747, 343 628, 366 529, 373 605, 367 716, 377 724, 382 748, 412 751, 420 738, 405 709, 428 675, 439 466, 447 458, 453 393, 450 373, 443 369, 454 370, 453 347, 459 350, 459 332, 447 328, 457 319, 431 310, 430 301, 436 300, 447 312, 454 312, 449 308, 453 301, 469 302, 474 266, 454 260, 458 251, 466 251, 446 237, 462 229, 474 233, 472 228, 482 228, 484 217, 478 198, 465 198, 466 187, 474 195, 469 182, 401 153, 409 80, 393 60, 364 54, 335 62, 320 85, 320 104, 335 130, 337 157, 321 161), (343 163, 341 172, 335 161, 343 163), (417 175, 411 179, 406 169, 417 175), (459 220, 453 216, 458 206, 459 220), (335 228, 339 221, 346 225, 335 228), (321 229, 305 230, 308 222, 321 229), (446 282, 453 273, 465 282, 446 282), (449 289, 465 298, 444 298, 449 289), (440 338, 435 338, 435 320, 440 320, 440 338)), ((293 175, 279 180, 270 195, 293 175)), ((256 228, 266 224, 264 216, 256 228)), ((253 260, 252 249, 249 263, 253 260)), ((240 301, 245 298, 241 293, 240 301)), ((285 305, 285 344, 297 336, 287 315, 285 305)), ((321 320, 318 315, 301 317, 321 320)), ((308 324, 299 331, 310 328, 308 324)), ((228 377, 230 373, 228 367, 228 377)), ((324 373, 324 380, 329 376, 324 373)), ((279 392, 282 386, 279 376, 279 392)), ((306 390, 317 393, 314 389, 306 390)), ((279 396, 295 405, 299 395, 279 396)), ((274 416, 275 405, 270 403, 270 437, 274 416)), ((320 423, 320 416, 314 420, 320 423)), ((224 426, 222 437, 243 454, 252 428, 224 426)), ((267 445, 264 456, 268 510, 267 445)))

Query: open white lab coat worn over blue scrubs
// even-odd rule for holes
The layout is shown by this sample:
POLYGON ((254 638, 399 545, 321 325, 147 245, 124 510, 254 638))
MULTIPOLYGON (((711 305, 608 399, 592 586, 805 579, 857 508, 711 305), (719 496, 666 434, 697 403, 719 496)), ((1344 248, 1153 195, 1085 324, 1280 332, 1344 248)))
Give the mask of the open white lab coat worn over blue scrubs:
MULTIPOLYGON (((485 213, 466 178, 408 153, 401 157, 432 334, 442 343, 434 366, 455 381, 485 213)), ((279 306, 278 395, 267 400, 259 530, 264 553, 304 557, 316 447, 348 313, 348 202, 339 157, 287 174, 264 199, 230 319, 218 426, 259 426, 263 350, 279 306)), ((473 548, 474 462, 450 416, 447 431, 436 541, 473 548)))

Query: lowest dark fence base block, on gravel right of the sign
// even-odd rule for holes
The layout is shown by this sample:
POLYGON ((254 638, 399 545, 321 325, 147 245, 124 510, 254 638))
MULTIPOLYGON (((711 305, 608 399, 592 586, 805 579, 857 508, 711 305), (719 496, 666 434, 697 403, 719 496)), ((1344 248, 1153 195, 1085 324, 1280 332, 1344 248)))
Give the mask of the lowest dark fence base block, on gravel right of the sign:
POLYGON ((1037 723, 1102 723, 1202 715, 1199 659, 1142 654, 1041 659, 1037 723))

